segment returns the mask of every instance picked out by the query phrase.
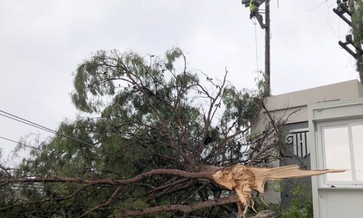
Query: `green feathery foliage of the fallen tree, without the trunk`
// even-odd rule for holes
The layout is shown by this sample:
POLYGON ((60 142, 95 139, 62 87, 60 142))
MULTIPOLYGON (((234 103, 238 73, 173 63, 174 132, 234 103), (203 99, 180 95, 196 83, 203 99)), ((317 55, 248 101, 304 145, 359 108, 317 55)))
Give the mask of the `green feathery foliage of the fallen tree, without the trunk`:
MULTIPOLYGON (((186 66, 179 48, 167 51, 164 58, 134 51, 94 53, 74 74, 71 98, 82 116, 74 122, 64 121, 58 134, 46 141, 31 147, 19 145, 18 149, 27 149, 30 156, 20 163, 14 177, 115 181, 153 169, 199 172, 205 165, 247 162, 250 142, 246 139, 251 122, 259 114, 262 86, 255 91, 239 91, 227 81, 214 81, 186 66), (218 93, 220 97, 214 97, 218 93)), ((188 180, 150 192, 152 187, 175 180, 163 175, 122 186, 109 204, 90 212, 107 202, 117 187, 5 185, 0 188, 0 217, 63 218, 85 213, 85 217, 114 217, 126 209, 201 202, 221 190, 203 180, 188 180)), ((143 217, 182 215, 162 212, 143 217)), ((224 207, 214 207, 195 215, 226 217, 227 212, 224 207)))

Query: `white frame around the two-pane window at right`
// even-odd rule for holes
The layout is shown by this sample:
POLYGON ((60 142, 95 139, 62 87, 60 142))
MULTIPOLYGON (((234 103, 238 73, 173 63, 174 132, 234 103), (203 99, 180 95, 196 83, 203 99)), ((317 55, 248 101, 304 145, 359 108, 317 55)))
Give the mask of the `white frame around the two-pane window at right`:
POLYGON ((356 181, 356 171, 355 171, 355 156, 354 156, 354 145, 352 139, 352 126, 363 125, 363 119, 355 120, 344 120, 344 121, 334 121, 334 122, 323 122, 317 124, 317 139, 318 139, 318 165, 320 169, 327 169, 326 167, 326 149, 324 142, 324 129, 347 127, 348 129, 348 141, 349 141, 349 154, 350 154, 350 167, 351 167, 351 181, 328 181, 327 175, 323 175, 320 179, 320 187, 359 187, 363 188, 363 181, 356 181))

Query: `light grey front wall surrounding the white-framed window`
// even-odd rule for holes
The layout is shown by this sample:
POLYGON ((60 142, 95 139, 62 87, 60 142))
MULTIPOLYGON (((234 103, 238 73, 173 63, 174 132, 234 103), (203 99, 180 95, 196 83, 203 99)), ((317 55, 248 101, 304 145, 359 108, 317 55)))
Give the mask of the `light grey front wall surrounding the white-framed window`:
MULTIPOLYGON (((317 127, 327 122, 362 119, 363 97, 311 104, 308 113, 309 144, 315 145, 311 149, 311 167, 316 170, 321 169, 323 162, 317 127)), ((324 185, 323 181, 324 176, 312 178, 314 218, 363 217, 363 185, 332 187, 324 185)))

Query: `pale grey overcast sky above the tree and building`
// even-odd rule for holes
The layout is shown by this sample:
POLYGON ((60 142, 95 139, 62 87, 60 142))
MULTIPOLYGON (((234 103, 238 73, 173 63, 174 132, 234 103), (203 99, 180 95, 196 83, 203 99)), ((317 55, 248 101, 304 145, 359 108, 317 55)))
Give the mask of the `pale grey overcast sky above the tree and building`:
MULTIPOLYGON (((353 59, 338 45, 347 25, 335 0, 272 0, 272 94, 357 79, 353 59), (319 7, 318 7, 319 6, 319 7), (329 8, 330 7, 330 8, 329 8)), ((239 0, 0 0, 0 110, 55 129, 77 111, 69 93, 77 65, 99 49, 163 55, 178 46, 192 69, 253 88, 255 26, 239 0)), ((259 69, 264 31, 257 26, 259 69)), ((0 117, 0 136, 41 133, 0 117)), ((7 156, 16 144, 0 139, 7 156)), ((11 161, 11 160, 8 160, 11 161)))

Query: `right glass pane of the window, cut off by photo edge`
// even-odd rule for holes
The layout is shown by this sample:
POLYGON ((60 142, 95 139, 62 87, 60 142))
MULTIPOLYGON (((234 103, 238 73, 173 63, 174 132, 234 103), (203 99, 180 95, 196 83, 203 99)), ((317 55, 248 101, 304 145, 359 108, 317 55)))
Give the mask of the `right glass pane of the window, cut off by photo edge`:
POLYGON ((363 181, 363 125, 352 126, 352 141, 357 181, 363 181))

